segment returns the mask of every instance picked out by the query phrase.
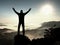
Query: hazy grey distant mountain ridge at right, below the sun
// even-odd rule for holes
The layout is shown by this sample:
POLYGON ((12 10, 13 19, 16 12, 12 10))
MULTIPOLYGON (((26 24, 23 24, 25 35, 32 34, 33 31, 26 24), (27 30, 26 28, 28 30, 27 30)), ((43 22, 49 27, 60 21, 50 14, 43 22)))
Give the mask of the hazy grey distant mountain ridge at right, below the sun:
POLYGON ((50 22, 44 22, 42 23, 42 26, 40 28, 49 28, 49 27, 60 27, 60 21, 50 21, 50 22))

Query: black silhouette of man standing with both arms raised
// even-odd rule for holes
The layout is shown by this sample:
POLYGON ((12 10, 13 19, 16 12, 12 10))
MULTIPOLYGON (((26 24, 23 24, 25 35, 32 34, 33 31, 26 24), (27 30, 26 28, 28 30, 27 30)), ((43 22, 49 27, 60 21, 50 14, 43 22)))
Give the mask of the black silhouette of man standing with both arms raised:
POLYGON ((31 8, 27 11, 27 12, 25 12, 25 13, 23 13, 23 10, 21 10, 20 11, 20 13, 18 13, 14 8, 12 8, 13 9, 13 11, 18 15, 18 17, 19 17, 19 23, 18 23, 18 35, 19 35, 19 33, 20 33, 20 26, 22 25, 22 28, 23 28, 23 35, 25 35, 25 25, 24 25, 24 17, 25 17, 25 15, 31 10, 31 8))

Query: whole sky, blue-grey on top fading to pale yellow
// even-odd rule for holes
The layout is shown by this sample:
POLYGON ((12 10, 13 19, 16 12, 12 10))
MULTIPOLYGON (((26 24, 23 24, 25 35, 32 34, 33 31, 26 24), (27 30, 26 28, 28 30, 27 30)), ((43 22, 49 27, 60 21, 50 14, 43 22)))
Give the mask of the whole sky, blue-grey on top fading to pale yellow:
POLYGON ((18 16, 12 8, 20 12, 31 11, 25 16, 25 28, 35 29, 43 22, 60 21, 60 0, 0 0, 0 28, 17 30, 18 16))

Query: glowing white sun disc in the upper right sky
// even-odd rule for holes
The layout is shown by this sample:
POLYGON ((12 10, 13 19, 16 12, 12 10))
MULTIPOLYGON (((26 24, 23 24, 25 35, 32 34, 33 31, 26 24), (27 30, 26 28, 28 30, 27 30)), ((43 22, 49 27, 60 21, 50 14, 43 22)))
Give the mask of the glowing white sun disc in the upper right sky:
POLYGON ((40 13, 44 15, 49 15, 53 13, 53 7, 49 4, 46 4, 40 8, 40 13))

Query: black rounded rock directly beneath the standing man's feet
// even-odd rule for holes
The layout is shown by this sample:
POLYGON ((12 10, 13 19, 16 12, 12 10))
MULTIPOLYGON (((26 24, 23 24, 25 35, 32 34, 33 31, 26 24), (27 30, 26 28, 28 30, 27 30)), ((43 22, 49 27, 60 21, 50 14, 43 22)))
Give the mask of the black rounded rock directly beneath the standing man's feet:
POLYGON ((29 45, 30 39, 23 35, 16 35, 14 37, 14 45, 29 45))

